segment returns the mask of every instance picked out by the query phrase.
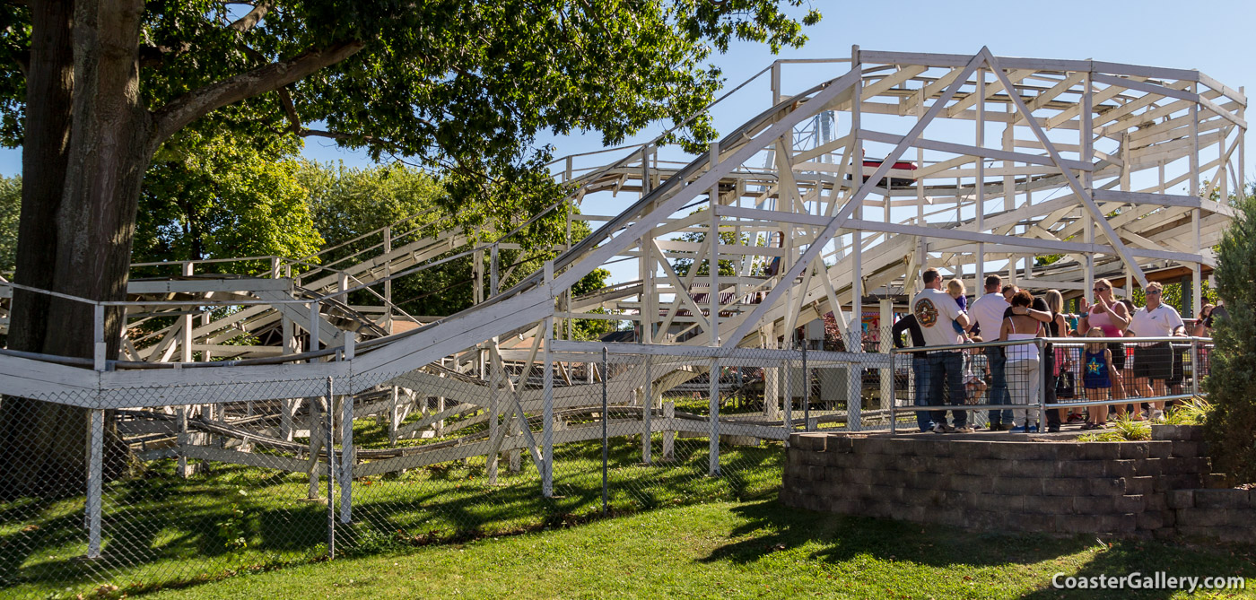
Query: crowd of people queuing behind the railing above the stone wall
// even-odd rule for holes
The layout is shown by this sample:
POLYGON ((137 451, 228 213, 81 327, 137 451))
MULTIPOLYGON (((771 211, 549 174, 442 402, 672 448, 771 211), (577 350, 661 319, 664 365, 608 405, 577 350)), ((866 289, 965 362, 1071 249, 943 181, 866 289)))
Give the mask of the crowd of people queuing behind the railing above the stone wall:
POLYGON ((1035 296, 1004 285, 999 275, 985 279, 983 294, 971 305, 958 279, 943 282, 938 270, 928 269, 922 282, 924 290, 912 299, 911 311, 892 329, 894 345, 903 348, 909 341, 914 348, 931 348, 911 353, 916 405, 955 407, 918 410, 922 432, 975 431, 971 410, 958 408, 965 404, 999 405, 987 413, 988 428, 1014 433, 1035 433, 1044 426, 1048 432, 1059 432, 1065 423, 1102 429, 1109 418, 1122 415, 1162 421, 1164 403, 1143 403, 1140 398, 1182 393, 1186 346, 1123 339, 1211 336, 1213 319, 1225 313, 1221 306, 1205 305, 1187 331, 1177 309, 1162 301, 1159 282, 1147 285, 1147 303, 1139 308, 1128 299, 1115 300, 1112 282, 1100 279, 1091 290, 1094 303, 1080 300, 1078 314, 1064 313, 1064 296, 1058 290, 1035 296), (1034 343, 1035 338, 1095 341, 1055 348, 1034 343), (1019 344, 965 348, 996 340, 1019 344), (1069 399, 1112 403, 1048 409, 1040 415, 1040 393, 1046 404, 1069 399))

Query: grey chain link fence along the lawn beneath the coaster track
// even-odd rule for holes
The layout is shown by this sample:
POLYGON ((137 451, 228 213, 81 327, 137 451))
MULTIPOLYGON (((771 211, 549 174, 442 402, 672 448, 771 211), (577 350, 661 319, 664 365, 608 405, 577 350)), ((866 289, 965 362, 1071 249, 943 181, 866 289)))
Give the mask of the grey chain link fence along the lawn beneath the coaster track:
POLYGON ((852 427, 852 399, 889 367, 800 344, 624 346, 486 345, 263 384, 162 369, 151 385, 5 397, 0 424, 25 432, 5 478, 24 483, 0 500, 0 590, 138 594, 762 496, 789 433, 852 427))

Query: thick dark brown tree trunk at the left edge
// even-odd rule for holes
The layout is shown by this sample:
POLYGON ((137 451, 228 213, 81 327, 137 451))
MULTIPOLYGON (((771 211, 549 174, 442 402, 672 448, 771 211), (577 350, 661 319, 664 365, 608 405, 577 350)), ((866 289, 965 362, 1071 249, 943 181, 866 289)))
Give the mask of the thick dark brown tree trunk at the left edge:
MULTIPOLYGON (((143 1, 33 4, 15 280, 90 300, 126 300, 139 185, 153 152, 151 115, 139 103, 143 1)), ((118 353, 123 316, 106 311, 108 356, 118 353)), ((11 348, 92 356, 90 304, 20 292, 11 323, 11 348)), ((108 422, 106 472, 116 474, 127 448, 108 422)), ((82 493, 87 427, 85 409, 6 398, 0 496, 82 493)))

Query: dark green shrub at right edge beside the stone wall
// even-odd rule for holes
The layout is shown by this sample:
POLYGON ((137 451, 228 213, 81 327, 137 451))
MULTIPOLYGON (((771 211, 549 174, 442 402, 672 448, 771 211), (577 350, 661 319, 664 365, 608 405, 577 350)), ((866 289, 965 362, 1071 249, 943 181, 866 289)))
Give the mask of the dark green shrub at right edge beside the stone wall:
POLYGON ((1217 291, 1228 318, 1213 329, 1205 436, 1218 469, 1256 482, 1256 197, 1235 208, 1217 252, 1217 291))

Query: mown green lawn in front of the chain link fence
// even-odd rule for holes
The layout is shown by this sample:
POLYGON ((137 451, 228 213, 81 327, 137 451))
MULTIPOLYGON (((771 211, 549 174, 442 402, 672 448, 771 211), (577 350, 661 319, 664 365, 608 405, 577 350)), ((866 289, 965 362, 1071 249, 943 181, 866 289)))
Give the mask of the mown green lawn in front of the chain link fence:
POLYGON ((1247 590, 1213 597, 1256 597, 1256 547, 982 533, 790 510, 775 498, 338 559, 146 597, 1186 596, 1054 590, 1059 571, 1241 575, 1247 590))

